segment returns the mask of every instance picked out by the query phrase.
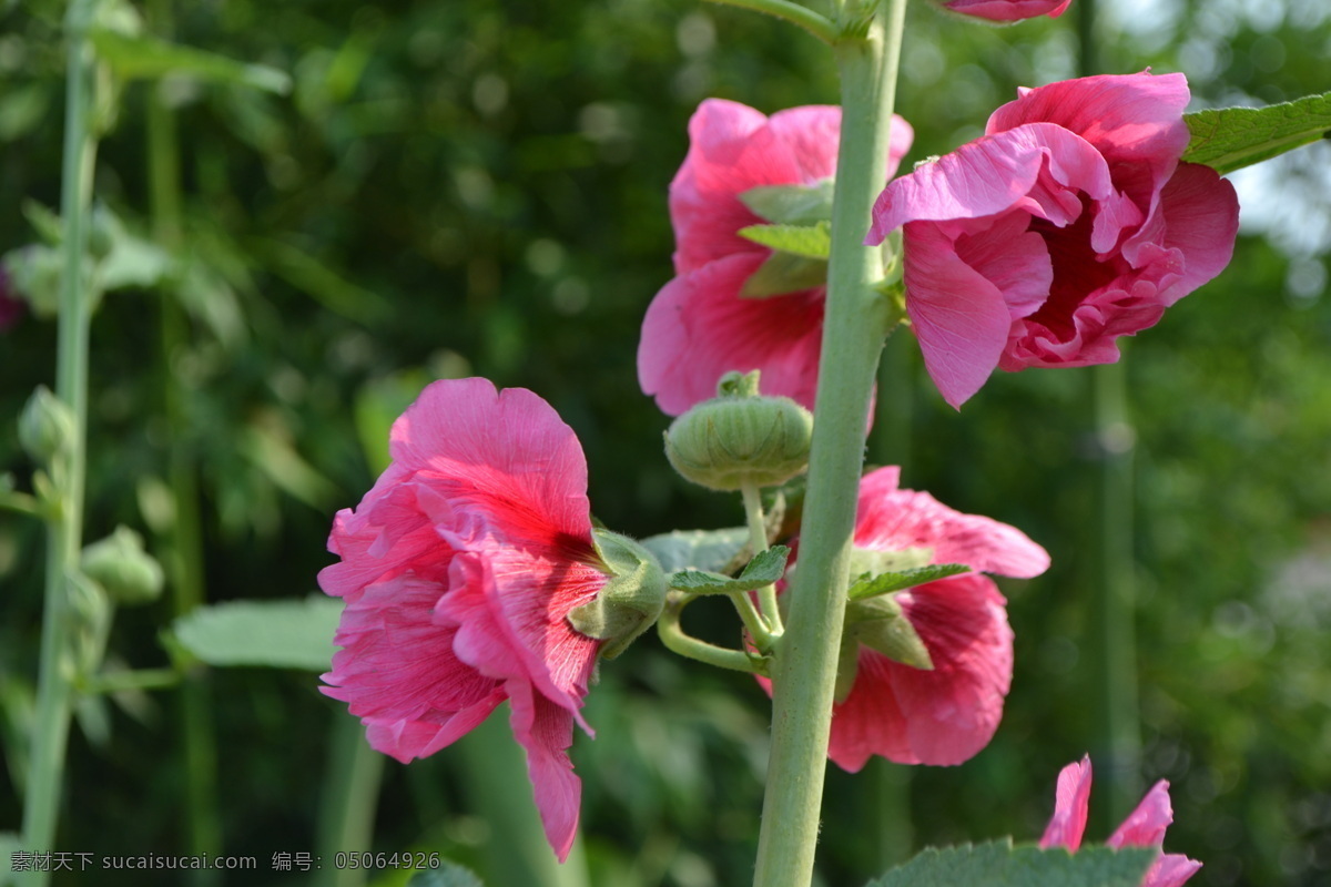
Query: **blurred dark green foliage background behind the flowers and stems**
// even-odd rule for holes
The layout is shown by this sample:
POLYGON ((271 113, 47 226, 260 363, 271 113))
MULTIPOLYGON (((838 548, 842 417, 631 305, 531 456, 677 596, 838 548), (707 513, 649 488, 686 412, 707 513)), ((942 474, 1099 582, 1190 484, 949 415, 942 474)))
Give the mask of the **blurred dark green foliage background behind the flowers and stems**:
MULTIPOLYGON (((110 293, 96 317, 89 540, 140 528, 185 569, 177 577, 193 569, 182 560, 198 568, 210 602, 305 596, 330 560, 333 512, 373 481, 366 447, 382 440, 362 436, 377 412, 431 378, 470 374, 555 406, 583 442, 608 527, 647 536, 740 523, 737 501, 688 488, 660 457, 667 418, 638 390, 638 328, 671 277, 666 189, 689 114, 708 96, 768 113, 835 102, 819 43, 685 0, 158 0, 148 12, 149 32, 289 72, 294 88, 166 77, 114 97, 97 199, 188 271, 110 293), (162 121, 174 137, 150 149, 162 121), (164 157, 178 160, 176 227, 162 225, 172 210, 160 197, 154 207, 164 157), (176 520, 190 503, 194 553, 176 520)), ((0 251, 37 239, 25 201, 59 205, 61 15, 51 0, 0 13, 0 251)), ((1073 19, 1000 29, 913 4, 898 101, 917 133, 908 162, 977 136, 1017 85, 1074 76, 1073 19)), ((1105 9, 1097 28, 1103 70, 1182 70, 1198 106, 1328 86, 1324 0, 1137 0, 1105 9)), ((1167 847, 1206 863, 1193 883, 1324 886, 1331 145, 1235 178, 1244 227, 1230 270, 1127 348, 1138 649, 1135 674, 1117 677, 1139 688, 1139 789, 1173 783, 1167 847)), ((53 354, 47 318, 28 313, 0 332, 0 416, 11 418, 0 471, 20 488, 32 465, 12 418, 51 384, 53 354)), ((1054 568, 1005 585, 1017 674, 986 751, 956 769, 832 769, 819 863, 832 886, 929 843, 1038 838, 1058 769, 1098 747, 1090 374, 998 374, 957 414, 908 334, 889 362, 870 460, 902 463, 905 485, 1021 527, 1054 568)), ((20 818, 15 735, 31 709, 43 545, 35 521, 0 515, 0 831, 20 818)), ((120 613, 113 658, 164 666, 158 632, 176 605, 120 613)), ((260 860, 257 875, 210 883, 307 883, 269 860, 314 847, 345 707, 301 672, 212 670, 194 686, 212 710, 214 761, 185 757, 176 692, 83 713, 59 848, 189 852, 196 814, 182 786, 204 767, 216 851, 260 860)), ((574 749, 591 883, 747 883, 767 711, 749 680, 651 637, 604 668, 586 711, 598 738, 574 749)), ((508 836, 466 761, 462 749, 387 762, 374 848, 438 850, 487 874, 508 836)), ((524 793, 500 806, 530 805, 524 793)))

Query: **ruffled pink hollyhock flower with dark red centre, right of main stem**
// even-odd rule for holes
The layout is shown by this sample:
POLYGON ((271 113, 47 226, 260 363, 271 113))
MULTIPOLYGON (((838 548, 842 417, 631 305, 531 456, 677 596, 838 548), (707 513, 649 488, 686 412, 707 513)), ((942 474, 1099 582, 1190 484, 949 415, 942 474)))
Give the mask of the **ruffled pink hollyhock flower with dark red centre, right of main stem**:
POLYGON ((882 191, 868 242, 905 226, 906 313, 948 403, 994 367, 1113 363, 1225 269, 1238 201, 1179 162, 1187 100, 1183 74, 1149 72, 1024 89, 882 191))

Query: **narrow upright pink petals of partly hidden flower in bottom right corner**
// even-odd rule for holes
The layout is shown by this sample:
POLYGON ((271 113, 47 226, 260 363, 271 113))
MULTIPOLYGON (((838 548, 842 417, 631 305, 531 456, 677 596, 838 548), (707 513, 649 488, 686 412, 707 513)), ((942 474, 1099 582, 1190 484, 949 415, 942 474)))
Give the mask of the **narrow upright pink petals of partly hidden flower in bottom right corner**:
MULTIPOLYGON (((1081 763, 1069 763, 1058 774, 1058 787, 1054 794, 1054 817, 1040 839, 1041 847, 1066 847, 1075 852, 1081 847, 1082 832, 1086 831, 1086 809, 1090 803, 1090 758, 1081 763)), ((1165 843, 1165 830, 1174 822, 1174 810, 1169 802, 1169 782, 1157 782, 1137 810, 1129 814, 1106 842, 1115 850, 1119 847, 1155 847, 1165 843)), ((1146 870, 1141 887, 1178 887, 1191 878, 1202 863, 1182 854, 1162 852, 1146 870)))

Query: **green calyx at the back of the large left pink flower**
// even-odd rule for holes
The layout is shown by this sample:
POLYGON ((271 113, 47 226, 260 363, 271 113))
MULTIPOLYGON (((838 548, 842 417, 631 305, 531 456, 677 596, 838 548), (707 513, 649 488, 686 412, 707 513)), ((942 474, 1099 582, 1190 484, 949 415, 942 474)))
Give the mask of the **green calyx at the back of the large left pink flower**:
POLYGON ((652 626, 666 606, 666 570, 644 545, 594 528, 592 541, 610 574, 596 598, 568 612, 580 634, 604 641, 600 657, 612 660, 652 626))

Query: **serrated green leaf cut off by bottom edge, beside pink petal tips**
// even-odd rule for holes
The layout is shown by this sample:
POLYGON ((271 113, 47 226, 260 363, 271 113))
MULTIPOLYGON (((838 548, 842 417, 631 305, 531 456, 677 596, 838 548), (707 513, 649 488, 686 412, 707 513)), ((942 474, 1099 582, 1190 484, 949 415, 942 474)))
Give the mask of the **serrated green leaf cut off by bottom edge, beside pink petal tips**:
POLYGON ((978 846, 930 847, 868 887, 1138 887, 1154 847, 1111 850, 1013 847, 1010 839, 978 846))

